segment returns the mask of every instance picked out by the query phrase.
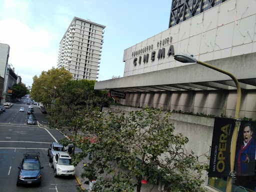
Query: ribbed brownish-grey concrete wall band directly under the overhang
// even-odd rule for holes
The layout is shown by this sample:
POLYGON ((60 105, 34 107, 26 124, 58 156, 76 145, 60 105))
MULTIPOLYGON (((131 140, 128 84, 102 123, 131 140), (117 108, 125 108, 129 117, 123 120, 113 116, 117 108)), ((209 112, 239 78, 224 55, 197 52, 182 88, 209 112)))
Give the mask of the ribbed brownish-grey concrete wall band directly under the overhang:
MULTIPOLYGON (((239 116, 256 119, 256 90, 241 92, 239 116)), ((236 90, 129 92, 121 103, 234 117, 236 90)))

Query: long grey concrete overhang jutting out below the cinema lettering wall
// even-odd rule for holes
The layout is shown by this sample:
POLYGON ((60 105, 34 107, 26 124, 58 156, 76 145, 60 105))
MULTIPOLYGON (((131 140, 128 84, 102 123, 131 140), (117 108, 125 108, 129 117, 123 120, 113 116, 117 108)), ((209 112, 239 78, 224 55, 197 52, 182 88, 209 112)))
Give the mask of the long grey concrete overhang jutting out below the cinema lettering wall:
MULTIPOLYGON (((256 53, 205 61, 232 73, 242 89, 256 89, 256 53)), ((94 89, 116 91, 183 91, 236 89, 226 74, 197 63, 95 82, 94 89)))

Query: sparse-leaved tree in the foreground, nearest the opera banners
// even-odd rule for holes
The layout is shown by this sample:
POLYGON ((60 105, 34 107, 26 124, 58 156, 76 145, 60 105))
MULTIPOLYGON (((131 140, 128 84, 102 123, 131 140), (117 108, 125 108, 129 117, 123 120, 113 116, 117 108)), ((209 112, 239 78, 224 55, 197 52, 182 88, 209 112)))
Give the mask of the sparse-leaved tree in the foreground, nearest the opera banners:
POLYGON ((131 192, 135 187, 139 192, 143 177, 150 183, 158 180, 165 191, 204 191, 201 176, 207 165, 187 152, 188 138, 173 133, 169 116, 147 107, 128 114, 95 111, 77 121, 83 125, 81 134, 60 142, 81 149, 73 162, 84 161, 81 176, 97 180, 94 191, 131 192))

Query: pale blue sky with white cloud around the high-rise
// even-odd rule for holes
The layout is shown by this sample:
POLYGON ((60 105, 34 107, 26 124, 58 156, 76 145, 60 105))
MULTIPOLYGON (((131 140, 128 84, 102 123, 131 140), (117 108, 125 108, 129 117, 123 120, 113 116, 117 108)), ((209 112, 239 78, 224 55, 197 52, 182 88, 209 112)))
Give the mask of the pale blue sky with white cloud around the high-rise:
POLYGON ((31 86, 57 67, 59 42, 73 17, 106 26, 99 80, 123 76, 123 51, 168 28, 171 0, 0 0, 0 43, 8 63, 31 86))

